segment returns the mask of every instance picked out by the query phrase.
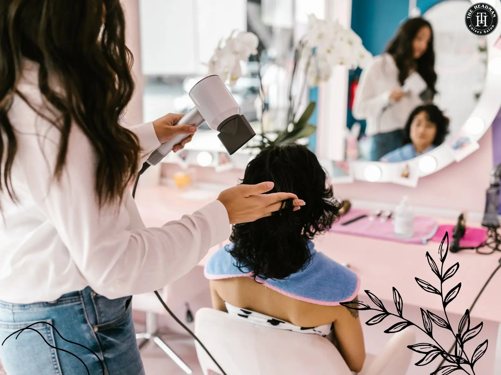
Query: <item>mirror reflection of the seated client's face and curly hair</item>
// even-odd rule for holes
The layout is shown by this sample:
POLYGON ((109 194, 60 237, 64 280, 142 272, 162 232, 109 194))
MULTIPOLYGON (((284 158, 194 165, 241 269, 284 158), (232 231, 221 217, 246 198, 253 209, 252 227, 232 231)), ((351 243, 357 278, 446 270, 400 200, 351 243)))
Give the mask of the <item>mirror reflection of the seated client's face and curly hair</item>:
POLYGON ((380 161, 410 160, 431 151, 445 140, 449 133, 449 119, 434 104, 416 107, 407 119, 402 146, 388 152, 380 161))

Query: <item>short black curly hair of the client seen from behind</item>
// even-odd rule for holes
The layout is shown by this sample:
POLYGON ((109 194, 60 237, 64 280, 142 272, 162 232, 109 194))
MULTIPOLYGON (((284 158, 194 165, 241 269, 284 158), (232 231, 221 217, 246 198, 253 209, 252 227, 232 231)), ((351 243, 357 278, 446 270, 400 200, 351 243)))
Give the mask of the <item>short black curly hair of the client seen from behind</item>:
POLYGON ((326 177, 317 156, 299 144, 267 147, 249 162, 242 183, 273 181, 269 192, 295 193, 306 205, 293 211, 289 202, 281 214, 234 225, 234 247, 226 249, 241 270, 254 279, 284 279, 310 263, 308 241, 332 226, 342 206, 326 177))

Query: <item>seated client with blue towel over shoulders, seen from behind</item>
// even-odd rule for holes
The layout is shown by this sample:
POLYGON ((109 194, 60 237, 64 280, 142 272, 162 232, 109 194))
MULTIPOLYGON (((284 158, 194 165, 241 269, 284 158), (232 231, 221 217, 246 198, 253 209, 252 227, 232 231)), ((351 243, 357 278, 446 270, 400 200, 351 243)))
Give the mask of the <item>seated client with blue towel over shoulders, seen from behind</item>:
MULTIPOLYGON (((339 217, 317 157, 298 144, 268 147, 249 162, 242 183, 273 181, 271 191, 291 191, 306 205, 255 222, 236 224, 231 244, 207 262, 215 309, 254 324, 319 334, 333 342, 352 371, 365 347, 358 311, 340 305, 356 299, 359 278, 315 250, 313 238, 339 217)), ((288 203, 288 202, 286 202, 288 203)))

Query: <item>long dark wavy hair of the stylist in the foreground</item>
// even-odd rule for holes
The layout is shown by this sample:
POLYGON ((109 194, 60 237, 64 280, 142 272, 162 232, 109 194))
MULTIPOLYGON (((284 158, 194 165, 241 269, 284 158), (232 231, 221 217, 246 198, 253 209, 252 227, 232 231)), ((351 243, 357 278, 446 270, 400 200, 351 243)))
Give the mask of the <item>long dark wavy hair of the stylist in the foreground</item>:
POLYGON ((121 200, 141 151, 137 136, 119 124, 134 90, 132 62, 119 0, 0 1, 0 191, 7 189, 17 200, 11 170, 18 144, 8 113, 19 95, 45 119, 45 110, 57 114, 57 120, 50 119, 61 133, 54 177, 59 179, 65 166, 73 121, 97 156, 99 203, 121 200), (25 59, 39 66, 48 108, 35 108, 18 90, 25 59), (62 90, 49 84, 53 78, 62 90))

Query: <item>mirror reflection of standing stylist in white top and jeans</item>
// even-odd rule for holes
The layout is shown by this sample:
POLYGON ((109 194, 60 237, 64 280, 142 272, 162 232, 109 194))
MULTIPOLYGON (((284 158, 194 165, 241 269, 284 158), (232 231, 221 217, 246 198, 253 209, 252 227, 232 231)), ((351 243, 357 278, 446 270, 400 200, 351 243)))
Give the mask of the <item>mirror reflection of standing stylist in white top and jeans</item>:
POLYGON ((386 52, 376 56, 362 71, 353 116, 367 120, 370 160, 377 161, 399 147, 409 113, 423 101, 433 99, 436 93, 434 61, 431 25, 423 18, 411 18, 400 26, 386 52), (426 83, 427 89, 421 94, 406 87, 406 79, 413 73, 420 77, 412 76, 412 81, 426 83))

